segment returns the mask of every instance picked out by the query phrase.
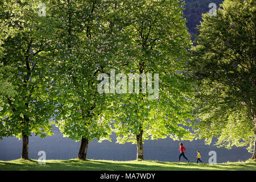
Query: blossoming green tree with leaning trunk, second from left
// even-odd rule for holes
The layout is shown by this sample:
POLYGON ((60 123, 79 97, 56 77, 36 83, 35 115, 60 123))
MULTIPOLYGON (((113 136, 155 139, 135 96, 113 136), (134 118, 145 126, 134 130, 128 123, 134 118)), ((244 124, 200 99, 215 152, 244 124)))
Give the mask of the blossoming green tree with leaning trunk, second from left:
POLYGON ((62 26, 57 29, 55 82, 56 123, 64 136, 81 140, 78 158, 85 160, 88 143, 108 139, 104 117, 105 94, 98 93, 97 77, 118 60, 121 30, 113 1, 53 1, 52 9, 62 26))

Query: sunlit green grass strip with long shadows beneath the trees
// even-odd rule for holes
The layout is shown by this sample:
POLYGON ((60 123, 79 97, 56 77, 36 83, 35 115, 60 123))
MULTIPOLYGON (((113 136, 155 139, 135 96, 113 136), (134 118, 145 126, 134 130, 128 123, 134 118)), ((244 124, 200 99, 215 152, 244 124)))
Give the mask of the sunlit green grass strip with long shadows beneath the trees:
POLYGON ((49 170, 49 171, 80 171, 80 170, 114 170, 114 171, 181 171, 181 170, 256 170, 256 163, 253 160, 246 162, 228 162, 220 164, 196 164, 196 163, 175 163, 158 162, 150 160, 112 161, 112 160, 46 160, 46 164, 38 164, 37 160, 11 160, 1 161, 0 170, 49 170))

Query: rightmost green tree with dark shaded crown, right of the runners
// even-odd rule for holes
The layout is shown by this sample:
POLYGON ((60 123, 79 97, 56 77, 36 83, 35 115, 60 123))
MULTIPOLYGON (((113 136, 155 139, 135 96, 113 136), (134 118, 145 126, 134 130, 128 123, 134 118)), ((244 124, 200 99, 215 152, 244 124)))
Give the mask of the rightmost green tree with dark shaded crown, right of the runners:
POLYGON ((187 68, 196 80, 194 127, 220 147, 246 146, 255 159, 255 1, 225 0, 203 15, 187 68))

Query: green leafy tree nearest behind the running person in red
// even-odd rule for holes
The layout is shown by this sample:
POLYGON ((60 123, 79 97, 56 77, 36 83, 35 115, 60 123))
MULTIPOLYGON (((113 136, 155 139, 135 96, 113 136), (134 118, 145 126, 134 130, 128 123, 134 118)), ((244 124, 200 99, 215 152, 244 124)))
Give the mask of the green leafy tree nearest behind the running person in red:
MULTIPOLYGON (((152 80, 159 74, 159 92, 155 98, 143 92, 115 93, 109 105, 117 142, 137 144, 137 159, 143 159, 143 141, 170 136, 173 139, 192 139, 184 128, 189 126, 191 105, 188 95, 191 81, 182 75, 188 57, 187 47, 191 44, 181 1, 125 1, 120 6, 124 34, 129 38, 126 52, 127 65, 115 70, 117 73, 145 74, 152 80)), ((126 53, 124 53, 126 55, 126 53)), ((116 78, 118 81, 118 78, 116 78)), ((120 80, 120 79, 119 79, 120 80)), ((156 83, 156 82, 155 82, 156 83)), ((132 84, 135 88, 135 82, 132 84)), ((119 87, 119 82, 115 87, 119 87)))

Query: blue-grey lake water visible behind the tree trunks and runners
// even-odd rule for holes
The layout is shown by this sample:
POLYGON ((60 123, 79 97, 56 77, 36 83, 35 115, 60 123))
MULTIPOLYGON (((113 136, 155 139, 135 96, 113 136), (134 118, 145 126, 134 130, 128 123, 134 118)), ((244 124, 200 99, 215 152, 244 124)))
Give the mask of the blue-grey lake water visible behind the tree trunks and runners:
MULTIPOLYGON (((29 157, 38 159, 38 152, 45 151, 46 159, 74 159, 77 158, 80 142, 75 142, 69 138, 63 137, 60 131, 54 127, 55 135, 41 139, 32 136, 29 138, 29 157)), ((135 160, 137 147, 135 144, 117 144, 115 135, 112 135, 112 142, 103 141, 98 143, 97 140, 89 143, 88 159, 105 159, 105 160, 135 160)), ((233 147, 232 150, 226 148, 217 148, 213 144, 205 145, 204 140, 174 141, 170 138, 144 141, 144 159, 158 160, 163 162, 176 162, 180 152, 179 142, 183 142, 187 149, 185 155, 190 162, 196 162, 197 150, 204 163, 208 163, 210 158, 209 151, 216 151, 217 163, 237 162, 238 160, 247 160, 251 154, 247 152, 246 147, 233 147)), ((21 156, 22 140, 15 137, 3 138, 0 141, 0 160, 19 159, 21 156)), ((181 158, 181 162, 185 159, 181 158)))

